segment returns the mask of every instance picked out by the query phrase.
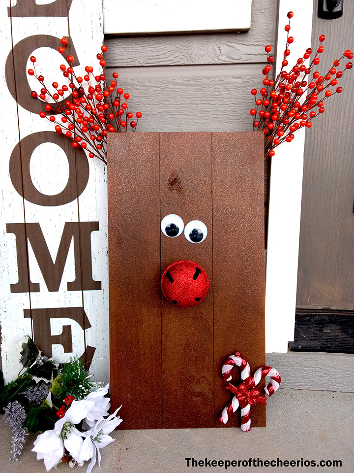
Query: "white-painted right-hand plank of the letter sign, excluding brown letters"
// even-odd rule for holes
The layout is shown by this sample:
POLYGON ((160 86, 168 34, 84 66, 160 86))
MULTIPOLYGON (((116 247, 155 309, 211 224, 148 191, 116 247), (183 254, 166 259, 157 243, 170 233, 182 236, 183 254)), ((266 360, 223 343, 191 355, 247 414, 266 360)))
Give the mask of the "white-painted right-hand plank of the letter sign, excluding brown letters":
MULTIPOLYGON (((88 8, 85 0, 73 1, 69 21, 76 27, 70 35, 80 58, 80 75, 87 65, 97 73, 101 70, 96 54, 103 44, 103 13, 100 2, 88 8), (85 16, 77 24, 77 18, 85 16), (78 46, 77 46, 78 45, 78 46)), ((98 380, 109 381, 109 314, 108 314, 108 221, 107 169, 98 159, 89 159, 89 182, 79 197, 79 218, 84 222, 99 222, 99 230, 91 234, 92 278, 101 281, 101 290, 84 291, 83 305, 91 328, 85 331, 86 344, 96 348, 90 371, 98 380)))

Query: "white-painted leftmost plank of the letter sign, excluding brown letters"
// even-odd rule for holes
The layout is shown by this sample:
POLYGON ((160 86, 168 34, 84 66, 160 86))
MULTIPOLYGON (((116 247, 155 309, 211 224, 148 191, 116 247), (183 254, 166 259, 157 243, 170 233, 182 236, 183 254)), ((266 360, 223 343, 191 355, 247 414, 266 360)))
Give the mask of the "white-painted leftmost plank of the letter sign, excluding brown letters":
MULTIPOLYGON (((31 335, 29 319, 24 319, 23 309, 29 307, 29 294, 10 296, 10 284, 17 282, 16 242, 13 234, 6 233, 6 223, 24 222, 23 199, 15 191, 10 180, 8 160, 14 145, 19 141, 16 102, 9 93, 5 81, 5 62, 11 50, 11 25, 7 18, 7 2, 0 4, 1 44, 0 57, 0 99, 3 110, 0 114, 1 155, 1 205, 0 205, 0 273, 1 273, 1 358, 2 369, 17 373, 22 368, 19 363, 19 342, 31 335), (17 351, 17 352, 16 352, 17 351)), ((6 376, 5 376, 6 377, 6 376)), ((8 379, 8 378, 7 378, 8 379)))

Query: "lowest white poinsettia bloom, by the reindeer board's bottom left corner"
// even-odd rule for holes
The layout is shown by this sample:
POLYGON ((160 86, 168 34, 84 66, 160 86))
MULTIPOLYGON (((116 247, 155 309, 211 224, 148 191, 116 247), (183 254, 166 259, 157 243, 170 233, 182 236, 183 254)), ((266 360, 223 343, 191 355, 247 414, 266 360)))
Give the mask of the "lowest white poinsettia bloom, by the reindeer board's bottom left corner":
POLYGON ((91 473, 92 468, 96 464, 96 454, 98 466, 101 468, 100 449, 115 440, 108 434, 110 434, 122 422, 122 419, 120 419, 119 416, 116 417, 120 407, 118 407, 118 409, 106 419, 101 416, 97 419, 97 422, 91 427, 91 429, 83 433, 85 440, 81 448, 79 459, 76 459, 76 461, 83 462, 91 460, 86 473, 91 473))

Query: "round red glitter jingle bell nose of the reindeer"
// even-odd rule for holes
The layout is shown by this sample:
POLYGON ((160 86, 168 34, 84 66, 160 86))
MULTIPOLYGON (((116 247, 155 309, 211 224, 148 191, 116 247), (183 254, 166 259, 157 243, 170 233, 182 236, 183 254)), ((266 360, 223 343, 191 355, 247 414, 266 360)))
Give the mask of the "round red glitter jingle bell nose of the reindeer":
POLYGON ((177 307, 199 304, 206 297, 208 289, 207 273, 193 261, 176 261, 162 274, 162 294, 177 307))

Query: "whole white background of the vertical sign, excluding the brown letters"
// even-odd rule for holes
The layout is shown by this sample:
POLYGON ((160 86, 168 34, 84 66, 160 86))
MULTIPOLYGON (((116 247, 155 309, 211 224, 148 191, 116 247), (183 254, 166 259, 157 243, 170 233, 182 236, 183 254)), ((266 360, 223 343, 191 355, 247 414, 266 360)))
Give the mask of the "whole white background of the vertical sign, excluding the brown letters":
MULTIPOLYGON (((10 19, 7 17, 7 5, 1 6, 2 25, 6 25, 7 38, 6 55, 1 59, 1 80, 3 79, 4 61, 11 51, 10 19)), ((84 75, 84 68, 88 64, 96 67, 98 61, 96 53, 100 51, 103 41, 102 5, 95 2, 88 4, 84 0, 73 0, 69 12, 70 31, 68 29, 67 17, 14 17, 12 18, 12 40, 17 44, 23 38, 36 34, 49 34, 61 38, 70 34, 80 62, 75 68, 78 75, 84 75)), ((1 26, 1 29, 5 28, 1 26)), ((58 52, 50 48, 38 48, 31 54, 37 57, 37 73, 43 73, 46 85, 56 80, 61 85, 67 79, 62 77, 59 65, 63 63, 58 52)), ((31 67, 28 61, 27 68, 31 67)), ((29 78, 31 88, 39 91, 40 85, 29 78)), ((70 353, 64 353, 61 345, 53 345, 53 355, 58 362, 65 362, 70 355, 81 355, 85 346, 96 348, 91 366, 96 379, 107 381, 109 373, 109 348, 108 348, 108 265, 107 265, 107 217, 106 217, 106 180, 105 170, 101 163, 92 163, 90 160, 90 176, 85 195, 71 203, 59 206, 42 206, 23 198, 15 191, 8 176, 8 162, 13 147, 19 141, 20 136, 24 138, 41 130, 54 131, 54 126, 49 121, 41 119, 37 114, 18 106, 18 123, 16 115, 16 101, 7 91, 6 84, 1 88, 10 113, 6 115, 6 121, 2 125, 2 136, 6 141, 6 154, 3 153, 1 169, 3 189, 1 208, 1 270, 5 274, 1 288, 1 299, 3 310, 1 312, 1 357, 5 380, 8 381, 17 375, 19 371, 20 344, 24 341, 24 335, 32 335, 29 318, 24 318, 23 309, 50 308, 50 307, 84 307, 91 328, 83 330, 77 321, 70 317, 51 319, 51 335, 59 335, 64 325, 71 326, 73 349, 70 353), (9 119, 11 117, 11 120, 9 119), (15 139, 14 139, 15 138, 15 139), (94 204, 92 204, 94 203, 94 204), (15 236, 6 234, 6 223, 39 223, 46 244, 53 261, 56 260, 59 243, 65 222, 95 222, 100 223, 100 230, 92 232, 92 272, 93 278, 102 281, 102 289, 95 291, 70 291, 67 282, 75 280, 74 265, 74 242, 71 241, 70 249, 66 259, 59 290, 49 292, 45 280, 29 244, 29 273, 33 283, 39 283, 40 292, 30 294, 11 294, 10 283, 16 283, 17 257, 15 236), (101 223, 102 221, 102 223, 101 223), (98 235, 95 235, 98 234, 98 235)), ((53 195, 66 185, 68 179, 67 162, 65 154, 60 147, 53 143, 43 143, 33 153, 30 172, 35 187, 42 193, 53 195), (43 159, 47 161, 42 166, 43 159), (48 173, 52 184, 48 183, 48 173), (52 189, 50 189, 50 186, 52 189)), ((85 248, 83 248, 85 251, 85 248)))

